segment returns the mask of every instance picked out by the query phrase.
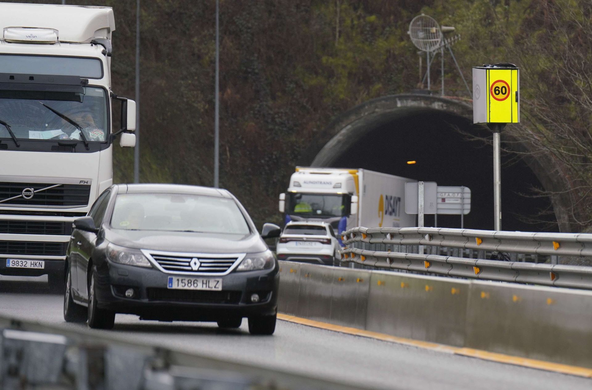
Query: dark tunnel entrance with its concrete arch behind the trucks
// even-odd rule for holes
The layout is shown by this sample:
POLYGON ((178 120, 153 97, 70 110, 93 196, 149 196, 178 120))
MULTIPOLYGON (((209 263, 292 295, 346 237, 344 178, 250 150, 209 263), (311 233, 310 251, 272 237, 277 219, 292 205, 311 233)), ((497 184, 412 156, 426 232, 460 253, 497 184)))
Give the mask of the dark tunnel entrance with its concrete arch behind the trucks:
MULTIPOLYGON (((311 166, 365 168, 436 181, 438 185, 468 186, 472 191, 472 209, 465 227, 493 230, 491 146, 470 141, 463 132, 482 138, 491 134, 486 127, 472 124, 472 104, 468 99, 423 94, 383 96, 334 118, 325 128, 325 134, 332 138, 308 161, 312 161, 311 166), (408 160, 417 163, 407 165, 408 160)), ((506 134, 502 139, 516 141, 506 134)), ((510 144, 517 152, 528 152, 522 143, 510 144)), ((533 187, 551 192, 565 188, 561 178, 549 175, 560 171, 559 167, 552 160, 536 156, 502 156, 502 228, 570 231, 565 201, 529 196, 535 195, 533 187), (549 214, 539 215, 544 210, 549 214), (546 222, 527 223, 529 218, 546 222)), ((439 216, 438 225, 459 227, 459 217, 439 216)))

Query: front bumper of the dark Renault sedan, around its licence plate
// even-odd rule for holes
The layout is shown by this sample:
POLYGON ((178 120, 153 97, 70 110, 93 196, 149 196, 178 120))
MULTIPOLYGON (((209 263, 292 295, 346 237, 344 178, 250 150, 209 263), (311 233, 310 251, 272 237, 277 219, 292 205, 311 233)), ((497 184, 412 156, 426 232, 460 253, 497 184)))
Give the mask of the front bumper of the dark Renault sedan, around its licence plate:
POLYGON ((136 314, 143 320, 217 321, 224 318, 274 315, 277 312, 279 272, 231 272, 224 276, 172 275, 155 268, 105 262, 97 267, 98 307, 136 314), (169 276, 221 279, 222 291, 168 289, 169 276), (134 297, 127 298, 127 289, 134 297), (260 301, 251 302, 252 294, 260 301))

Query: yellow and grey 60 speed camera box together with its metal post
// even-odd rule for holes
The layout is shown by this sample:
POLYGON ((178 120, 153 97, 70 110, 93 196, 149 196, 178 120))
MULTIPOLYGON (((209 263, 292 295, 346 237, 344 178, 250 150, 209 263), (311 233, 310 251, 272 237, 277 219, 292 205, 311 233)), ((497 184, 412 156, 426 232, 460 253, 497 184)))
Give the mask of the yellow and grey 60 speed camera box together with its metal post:
MULTIPOLYGON (((493 132, 493 223, 501 230, 501 131, 520 122, 519 69, 510 63, 473 67, 473 123, 493 132)), ((462 224, 462 223, 461 223, 462 224)))

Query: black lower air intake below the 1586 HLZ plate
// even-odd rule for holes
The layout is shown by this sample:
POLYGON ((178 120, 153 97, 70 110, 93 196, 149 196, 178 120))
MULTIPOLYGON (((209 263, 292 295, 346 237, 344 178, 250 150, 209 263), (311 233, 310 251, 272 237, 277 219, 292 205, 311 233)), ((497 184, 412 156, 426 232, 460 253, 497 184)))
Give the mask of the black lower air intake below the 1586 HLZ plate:
POLYGON ((197 304, 238 304, 240 291, 194 291, 168 288, 147 288, 150 301, 189 302, 197 304))

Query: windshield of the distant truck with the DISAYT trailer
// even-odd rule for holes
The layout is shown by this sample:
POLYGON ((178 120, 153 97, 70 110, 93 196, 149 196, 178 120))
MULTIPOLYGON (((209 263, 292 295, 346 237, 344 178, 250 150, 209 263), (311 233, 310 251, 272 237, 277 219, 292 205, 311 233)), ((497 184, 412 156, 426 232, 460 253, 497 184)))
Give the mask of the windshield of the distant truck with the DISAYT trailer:
POLYGON ((288 194, 286 212, 303 217, 343 217, 349 215, 350 195, 288 194))

